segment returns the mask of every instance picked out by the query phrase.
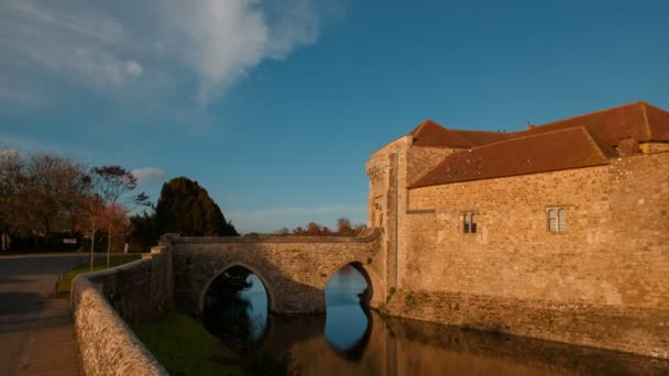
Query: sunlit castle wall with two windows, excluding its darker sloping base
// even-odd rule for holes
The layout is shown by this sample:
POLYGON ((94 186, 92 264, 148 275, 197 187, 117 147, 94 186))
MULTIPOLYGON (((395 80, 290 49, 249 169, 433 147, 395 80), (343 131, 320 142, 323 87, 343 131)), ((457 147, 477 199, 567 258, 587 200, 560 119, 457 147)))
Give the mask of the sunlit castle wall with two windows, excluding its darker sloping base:
POLYGON ((401 285, 669 309, 669 153, 409 190, 401 285), (547 209, 567 209, 550 232, 547 209), (464 234, 460 214, 479 213, 464 234), (425 276, 428 276, 427 278, 425 276))

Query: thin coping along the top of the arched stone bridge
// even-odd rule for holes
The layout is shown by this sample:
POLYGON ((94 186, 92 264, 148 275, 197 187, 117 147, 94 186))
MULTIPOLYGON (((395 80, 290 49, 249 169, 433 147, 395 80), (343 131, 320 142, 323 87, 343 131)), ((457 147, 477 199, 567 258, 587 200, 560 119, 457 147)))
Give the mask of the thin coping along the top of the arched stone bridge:
POLYGON ((164 234, 161 245, 166 244, 254 244, 254 243, 371 243, 381 235, 381 229, 368 229, 359 236, 179 236, 178 234, 164 234))

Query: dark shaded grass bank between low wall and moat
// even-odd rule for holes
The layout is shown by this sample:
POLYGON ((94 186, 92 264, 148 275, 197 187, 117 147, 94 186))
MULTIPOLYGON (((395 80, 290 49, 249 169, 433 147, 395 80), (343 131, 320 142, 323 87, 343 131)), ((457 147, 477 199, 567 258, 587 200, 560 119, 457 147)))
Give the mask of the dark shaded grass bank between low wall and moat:
POLYGON ((239 357, 188 316, 169 312, 130 327, 172 375, 243 375, 239 357))

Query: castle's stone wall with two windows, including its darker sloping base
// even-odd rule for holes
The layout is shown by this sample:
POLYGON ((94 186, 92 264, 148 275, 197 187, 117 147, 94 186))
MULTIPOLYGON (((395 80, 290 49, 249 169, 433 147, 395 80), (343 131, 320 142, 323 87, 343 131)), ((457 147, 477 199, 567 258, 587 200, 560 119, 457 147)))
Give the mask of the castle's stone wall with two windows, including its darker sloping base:
POLYGON ((668 176, 658 153, 407 190, 388 310, 669 357, 668 176), (548 231, 551 207, 567 231, 548 231), (467 211, 475 234, 462 233, 467 211))

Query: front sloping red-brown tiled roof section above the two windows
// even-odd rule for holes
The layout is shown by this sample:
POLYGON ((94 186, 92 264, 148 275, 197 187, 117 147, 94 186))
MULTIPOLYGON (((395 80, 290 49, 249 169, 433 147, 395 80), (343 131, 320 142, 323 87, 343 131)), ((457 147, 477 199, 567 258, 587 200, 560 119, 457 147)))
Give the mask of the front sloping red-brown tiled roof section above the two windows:
POLYGON ((449 154, 410 188, 608 163, 583 126, 539 133, 449 154))

